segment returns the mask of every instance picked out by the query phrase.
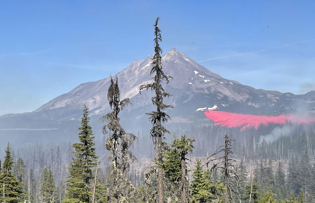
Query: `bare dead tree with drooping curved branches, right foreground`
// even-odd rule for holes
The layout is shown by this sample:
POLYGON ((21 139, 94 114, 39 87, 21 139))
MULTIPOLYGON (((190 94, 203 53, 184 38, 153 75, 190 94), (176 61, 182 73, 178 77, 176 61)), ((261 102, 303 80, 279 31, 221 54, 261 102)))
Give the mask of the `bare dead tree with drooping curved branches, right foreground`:
MULTIPOLYGON (((216 172, 217 169, 223 170, 224 174, 224 187, 226 188, 225 192, 225 202, 233 202, 232 199, 236 198, 240 201, 240 196, 238 194, 238 182, 239 177, 236 172, 236 168, 233 163, 236 162, 235 159, 230 158, 231 155, 235 156, 232 152, 232 141, 227 135, 224 136, 225 144, 219 147, 207 161, 207 166, 209 163, 214 162, 210 171, 216 172), (223 154, 223 155, 222 155, 223 154), (219 156, 219 157, 217 157, 219 156)), ((237 141, 235 141, 237 142, 237 141)))

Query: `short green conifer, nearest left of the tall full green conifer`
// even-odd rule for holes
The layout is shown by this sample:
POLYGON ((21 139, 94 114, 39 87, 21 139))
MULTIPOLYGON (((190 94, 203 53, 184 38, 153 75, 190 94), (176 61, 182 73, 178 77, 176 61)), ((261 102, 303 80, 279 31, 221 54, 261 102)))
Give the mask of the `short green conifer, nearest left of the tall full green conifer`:
POLYGON ((45 166, 42 170, 40 179, 39 179, 40 187, 39 187, 39 200, 40 202, 56 202, 55 198, 55 183, 54 177, 51 173, 51 170, 48 170, 45 166))

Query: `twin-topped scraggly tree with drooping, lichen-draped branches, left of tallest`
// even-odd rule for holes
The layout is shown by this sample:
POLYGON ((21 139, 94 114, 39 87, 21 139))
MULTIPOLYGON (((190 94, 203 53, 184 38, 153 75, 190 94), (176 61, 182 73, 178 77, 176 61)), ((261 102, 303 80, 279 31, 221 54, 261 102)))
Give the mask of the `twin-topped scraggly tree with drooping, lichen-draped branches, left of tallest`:
POLYGON ((109 134, 105 147, 109 151, 108 158, 112 161, 112 196, 114 197, 114 201, 118 203, 119 201, 128 201, 128 196, 126 196, 126 192, 124 191, 133 191, 135 189, 125 175, 129 171, 130 163, 136 161, 135 156, 129 150, 133 146, 136 136, 132 133, 127 133, 119 123, 118 114, 130 104, 130 100, 120 100, 117 77, 115 83, 111 77, 111 85, 108 88, 107 98, 109 106, 113 111, 102 116, 99 121, 107 122, 103 127, 103 134, 109 134))

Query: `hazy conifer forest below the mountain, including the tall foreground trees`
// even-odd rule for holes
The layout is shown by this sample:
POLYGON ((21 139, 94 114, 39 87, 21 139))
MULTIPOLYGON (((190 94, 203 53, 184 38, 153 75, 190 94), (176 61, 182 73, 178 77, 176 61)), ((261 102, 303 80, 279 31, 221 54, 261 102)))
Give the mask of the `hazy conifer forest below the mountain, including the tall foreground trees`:
POLYGON ((0 202, 315 202, 313 126, 270 124, 240 132, 210 121, 167 124, 165 110, 173 106, 163 103, 172 96, 164 87, 172 77, 163 73, 158 21, 153 82, 139 89, 154 92, 156 109, 147 112, 152 129, 137 135, 124 130, 119 116, 130 101, 120 98, 119 78, 111 78, 112 111, 99 120, 103 139, 93 134, 84 106, 75 143, 8 143, 0 164, 0 202), (261 136, 285 126, 290 133, 261 136))

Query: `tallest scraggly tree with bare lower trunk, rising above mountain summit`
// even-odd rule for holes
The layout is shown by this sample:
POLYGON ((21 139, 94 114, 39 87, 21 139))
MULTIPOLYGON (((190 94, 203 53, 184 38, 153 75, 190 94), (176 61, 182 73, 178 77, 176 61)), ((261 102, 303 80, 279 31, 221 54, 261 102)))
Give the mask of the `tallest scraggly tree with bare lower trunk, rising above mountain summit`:
MULTIPOLYGON (((163 104, 163 98, 169 97, 170 94, 166 93, 164 88, 162 87, 162 82, 165 81, 166 84, 169 83, 169 79, 172 77, 167 76, 164 74, 162 70, 162 63, 161 63, 161 53, 162 49, 159 45, 159 42, 162 41, 161 30, 157 27, 157 23, 159 21, 159 17, 157 17, 154 26, 154 56, 152 58, 152 69, 150 71, 150 75, 155 73, 154 82, 146 85, 140 86, 140 93, 141 90, 151 90, 155 91, 155 96, 152 97, 152 103, 157 107, 156 111, 152 111, 151 113, 147 113, 150 115, 150 121, 153 124, 153 127, 150 131, 150 135, 153 139, 153 143, 155 144, 156 152, 157 152, 157 162, 159 165, 163 164, 163 138, 165 133, 169 133, 162 124, 167 122, 170 117, 165 112, 164 109, 173 108, 172 105, 163 104)), ((158 199, 159 203, 164 203, 164 194, 163 194, 163 168, 158 168, 158 199)))

